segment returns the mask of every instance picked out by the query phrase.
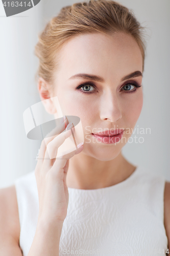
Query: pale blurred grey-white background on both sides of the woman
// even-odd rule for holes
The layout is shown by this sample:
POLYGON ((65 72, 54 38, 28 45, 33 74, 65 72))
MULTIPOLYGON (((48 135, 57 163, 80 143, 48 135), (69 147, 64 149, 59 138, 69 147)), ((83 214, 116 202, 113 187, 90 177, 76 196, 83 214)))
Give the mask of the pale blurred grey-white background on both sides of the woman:
MULTIPOLYGON (((34 170, 40 141, 29 140, 23 126, 22 114, 40 101, 34 76, 38 59, 34 46, 38 32, 57 15, 61 7, 81 1, 41 0, 28 11, 6 17, 0 3, 0 187, 13 184, 21 175, 34 170)), ((170 181, 169 150, 169 59, 170 59, 170 1, 120 0, 134 10, 147 26, 147 57, 143 73, 143 108, 135 127, 150 127, 143 143, 127 143, 124 156, 149 172, 162 174, 170 181)), ((139 136, 138 134, 136 136, 139 136)))

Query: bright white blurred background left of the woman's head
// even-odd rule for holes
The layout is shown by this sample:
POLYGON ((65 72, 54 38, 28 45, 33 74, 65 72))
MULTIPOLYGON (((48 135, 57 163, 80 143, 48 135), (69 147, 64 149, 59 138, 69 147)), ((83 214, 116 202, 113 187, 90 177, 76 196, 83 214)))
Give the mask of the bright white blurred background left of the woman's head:
POLYGON ((40 101, 35 82, 38 59, 34 46, 42 29, 42 3, 6 17, 0 2, 0 187, 9 186, 36 166, 40 141, 29 140, 23 112, 40 101))

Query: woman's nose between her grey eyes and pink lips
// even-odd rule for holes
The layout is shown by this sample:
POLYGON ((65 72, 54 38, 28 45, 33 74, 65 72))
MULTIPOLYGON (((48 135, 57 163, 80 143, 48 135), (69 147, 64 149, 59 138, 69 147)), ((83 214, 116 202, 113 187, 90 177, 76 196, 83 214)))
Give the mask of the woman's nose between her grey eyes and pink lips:
POLYGON ((101 120, 108 120, 110 122, 117 122, 122 118, 122 113, 120 106, 118 105, 118 99, 116 93, 111 92, 110 90, 101 98, 100 105, 100 117, 101 120))

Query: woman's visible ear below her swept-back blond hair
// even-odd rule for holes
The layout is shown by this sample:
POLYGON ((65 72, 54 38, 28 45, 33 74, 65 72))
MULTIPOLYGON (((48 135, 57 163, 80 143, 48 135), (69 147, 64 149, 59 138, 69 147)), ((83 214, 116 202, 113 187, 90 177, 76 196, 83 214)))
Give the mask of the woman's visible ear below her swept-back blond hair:
POLYGON ((51 93, 51 86, 48 82, 46 82, 42 77, 39 77, 38 79, 38 91, 40 98, 42 100, 42 103, 44 105, 44 108, 47 113, 49 114, 55 114, 57 112, 55 105, 53 103, 53 100, 51 99, 52 93, 51 93))

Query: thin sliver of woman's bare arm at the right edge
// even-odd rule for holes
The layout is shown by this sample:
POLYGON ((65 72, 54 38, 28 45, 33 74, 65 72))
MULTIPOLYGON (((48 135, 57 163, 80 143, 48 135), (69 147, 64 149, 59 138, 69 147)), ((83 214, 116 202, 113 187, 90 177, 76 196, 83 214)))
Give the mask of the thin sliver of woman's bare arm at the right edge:
POLYGON ((164 189, 164 226, 170 249, 170 182, 168 181, 165 182, 164 189))

